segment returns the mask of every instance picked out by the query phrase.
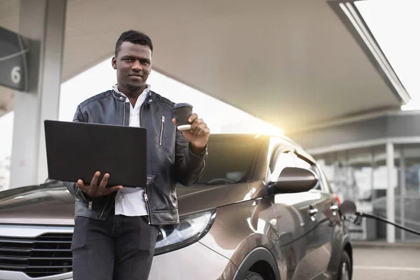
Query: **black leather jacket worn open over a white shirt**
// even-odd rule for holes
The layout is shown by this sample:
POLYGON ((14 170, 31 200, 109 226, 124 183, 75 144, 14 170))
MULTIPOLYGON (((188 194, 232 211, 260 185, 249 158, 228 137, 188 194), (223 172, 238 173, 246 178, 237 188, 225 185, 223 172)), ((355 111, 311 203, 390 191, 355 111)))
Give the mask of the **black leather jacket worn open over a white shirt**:
MULTIPOLYGON (((125 125, 130 122, 130 103, 114 90, 97 94, 81 103, 73 121, 125 125)), ((150 91, 140 109, 140 124, 145 127, 148 144, 148 186, 145 190, 149 221, 152 225, 179 223, 175 185, 195 183, 207 158, 207 148, 202 155, 191 153, 190 144, 172 123, 174 103, 150 91), (150 183, 150 184, 149 184, 150 183)), ((123 144, 120 146, 122 148, 123 144)), ((64 182, 76 198, 76 216, 105 220, 115 203, 116 192, 91 200, 76 187, 64 182)))

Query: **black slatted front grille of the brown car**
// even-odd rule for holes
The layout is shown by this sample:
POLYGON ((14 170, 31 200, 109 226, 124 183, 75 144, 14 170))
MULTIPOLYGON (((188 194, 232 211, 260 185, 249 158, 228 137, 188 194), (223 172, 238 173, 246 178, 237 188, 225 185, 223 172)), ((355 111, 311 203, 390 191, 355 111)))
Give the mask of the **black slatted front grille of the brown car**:
POLYGON ((0 270, 25 272, 31 277, 71 272, 71 236, 0 237, 0 270))

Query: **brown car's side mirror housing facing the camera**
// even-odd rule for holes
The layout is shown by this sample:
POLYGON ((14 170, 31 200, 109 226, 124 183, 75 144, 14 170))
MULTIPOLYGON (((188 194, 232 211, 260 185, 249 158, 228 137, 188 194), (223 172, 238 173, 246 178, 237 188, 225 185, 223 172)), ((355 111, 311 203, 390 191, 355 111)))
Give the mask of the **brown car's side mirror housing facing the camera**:
POLYGON ((303 193, 318 183, 318 176, 308 169, 286 167, 275 184, 276 193, 303 193))

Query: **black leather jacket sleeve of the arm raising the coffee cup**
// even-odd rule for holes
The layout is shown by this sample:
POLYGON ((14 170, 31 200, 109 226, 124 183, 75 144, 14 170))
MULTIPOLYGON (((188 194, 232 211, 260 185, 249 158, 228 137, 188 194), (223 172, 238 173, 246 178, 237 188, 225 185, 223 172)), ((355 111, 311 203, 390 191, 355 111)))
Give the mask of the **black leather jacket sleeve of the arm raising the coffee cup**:
POLYGON ((179 183, 183 184, 183 186, 190 186, 196 183, 204 172, 206 160, 207 146, 206 151, 202 155, 194 155, 191 152, 190 143, 183 139, 182 132, 176 132, 176 179, 179 183))

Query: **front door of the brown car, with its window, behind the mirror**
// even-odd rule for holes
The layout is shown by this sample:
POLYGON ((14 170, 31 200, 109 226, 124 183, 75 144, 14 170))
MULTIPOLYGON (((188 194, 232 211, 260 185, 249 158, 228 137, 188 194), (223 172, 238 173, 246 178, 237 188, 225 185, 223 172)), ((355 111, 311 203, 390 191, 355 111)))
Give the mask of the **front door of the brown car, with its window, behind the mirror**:
POLYGON ((270 189, 276 183, 285 167, 295 167, 293 148, 276 146, 269 159, 267 168, 267 191, 272 199, 276 215, 276 228, 279 236, 279 247, 284 253, 288 268, 288 279, 293 278, 295 269, 306 253, 304 228, 307 223, 307 204, 297 193, 272 194, 270 189))

